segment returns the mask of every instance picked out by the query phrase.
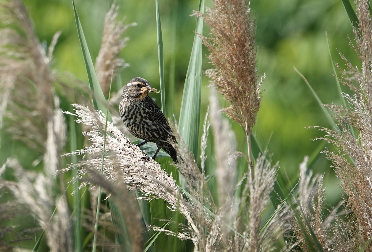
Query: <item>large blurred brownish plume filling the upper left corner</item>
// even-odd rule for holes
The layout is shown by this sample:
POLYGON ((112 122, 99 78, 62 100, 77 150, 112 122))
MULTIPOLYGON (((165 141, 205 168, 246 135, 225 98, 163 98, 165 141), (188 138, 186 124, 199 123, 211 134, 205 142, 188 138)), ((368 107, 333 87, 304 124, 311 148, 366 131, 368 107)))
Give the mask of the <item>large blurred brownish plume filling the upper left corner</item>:
POLYGON ((1 29, 0 37, 1 95, 7 101, 2 107, 3 111, 7 108, 8 129, 13 138, 43 153, 47 139, 44 132, 53 107, 51 58, 38 41, 20 0, 3 3, 1 12, 1 22, 12 25, 1 29))

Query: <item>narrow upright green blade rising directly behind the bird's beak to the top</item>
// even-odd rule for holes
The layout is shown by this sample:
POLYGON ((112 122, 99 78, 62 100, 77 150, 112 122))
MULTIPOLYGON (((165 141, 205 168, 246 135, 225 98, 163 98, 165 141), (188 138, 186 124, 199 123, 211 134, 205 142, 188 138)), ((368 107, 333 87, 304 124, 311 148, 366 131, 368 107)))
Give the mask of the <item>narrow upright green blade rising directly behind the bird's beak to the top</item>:
POLYGON ((161 112, 165 115, 165 93, 164 93, 164 52, 163 52, 163 35, 161 34, 161 23, 159 14, 159 3, 155 0, 156 6, 156 31, 158 37, 158 57, 159 57, 159 75, 160 75, 160 96, 161 96, 161 112))

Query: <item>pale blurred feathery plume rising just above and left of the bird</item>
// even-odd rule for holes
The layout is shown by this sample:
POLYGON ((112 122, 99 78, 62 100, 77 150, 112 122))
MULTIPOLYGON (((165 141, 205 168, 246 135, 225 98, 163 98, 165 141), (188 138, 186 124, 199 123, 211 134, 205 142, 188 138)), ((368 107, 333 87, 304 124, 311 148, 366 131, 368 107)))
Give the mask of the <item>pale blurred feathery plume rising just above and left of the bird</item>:
POLYGON ((115 6, 114 1, 109 12, 105 16, 102 44, 94 66, 104 94, 108 93, 111 80, 113 80, 123 68, 129 66, 128 63, 125 63, 124 59, 119 58, 120 51, 125 47, 128 41, 128 37, 122 38, 122 36, 127 28, 137 25, 136 23, 124 25, 125 19, 121 22, 116 22, 118 9, 119 7, 115 6))

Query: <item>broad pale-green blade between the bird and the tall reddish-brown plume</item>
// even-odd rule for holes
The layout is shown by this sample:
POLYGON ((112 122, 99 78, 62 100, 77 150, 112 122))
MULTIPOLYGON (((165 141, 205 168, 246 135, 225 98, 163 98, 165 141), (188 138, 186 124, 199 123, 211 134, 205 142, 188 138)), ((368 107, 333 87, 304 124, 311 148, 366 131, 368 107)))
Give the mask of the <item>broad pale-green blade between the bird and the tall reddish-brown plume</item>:
MULTIPOLYGON (((204 11, 204 0, 200 0, 199 12, 204 11)), ((203 34, 203 19, 196 20, 196 33, 203 34)), ((194 157, 198 157, 199 121, 202 82, 202 39, 195 34, 192 52, 183 89, 179 131, 194 157)))

